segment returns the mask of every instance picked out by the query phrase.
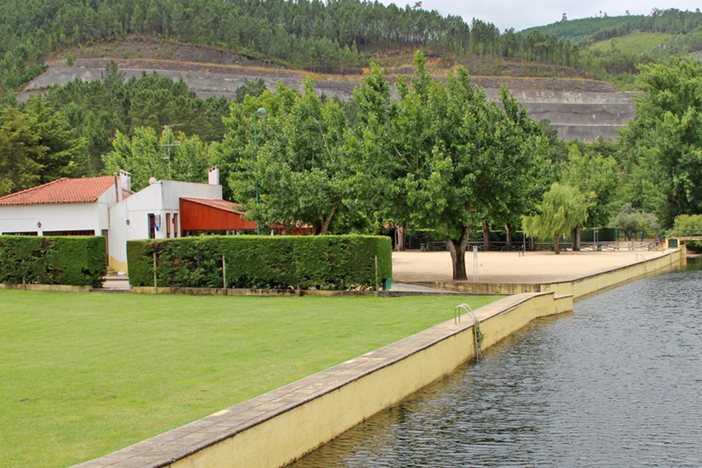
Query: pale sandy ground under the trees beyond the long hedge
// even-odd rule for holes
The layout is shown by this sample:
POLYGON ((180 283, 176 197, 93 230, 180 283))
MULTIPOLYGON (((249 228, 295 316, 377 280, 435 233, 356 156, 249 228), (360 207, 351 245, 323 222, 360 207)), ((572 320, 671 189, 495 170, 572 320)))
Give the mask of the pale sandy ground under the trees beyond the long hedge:
MULTIPOLYGON (((651 260, 663 252, 478 252, 477 282, 479 283, 541 283, 558 279, 573 279, 602 270, 651 260)), ((473 281, 474 257, 465 254, 465 272, 473 281)), ((392 281, 452 281, 449 252, 420 252, 411 250, 392 253, 392 281)))

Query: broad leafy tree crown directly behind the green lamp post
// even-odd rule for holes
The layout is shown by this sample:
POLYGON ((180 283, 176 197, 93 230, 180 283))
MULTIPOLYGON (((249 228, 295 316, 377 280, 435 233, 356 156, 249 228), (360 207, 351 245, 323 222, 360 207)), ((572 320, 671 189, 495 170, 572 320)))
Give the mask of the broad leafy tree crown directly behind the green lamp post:
POLYGON ((322 100, 311 79, 303 95, 279 84, 275 94, 266 91, 232 104, 227 125, 231 131, 218 153, 232 196, 249 219, 288 227, 302 223, 315 234, 334 231, 334 222, 364 230, 368 217, 362 205, 369 200, 372 173, 357 162, 363 152, 347 143, 354 140, 340 102, 322 100), (253 112, 258 107, 267 109, 267 117, 258 122, 257 152, 253 112))

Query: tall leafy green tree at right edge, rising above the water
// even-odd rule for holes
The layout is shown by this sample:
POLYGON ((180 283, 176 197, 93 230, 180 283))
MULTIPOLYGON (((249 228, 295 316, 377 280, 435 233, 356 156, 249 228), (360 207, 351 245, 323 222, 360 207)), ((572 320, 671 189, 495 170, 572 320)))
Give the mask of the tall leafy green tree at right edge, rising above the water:
POLYGON ((670 227, 677 215, 702 213, 702 65, 642 65, 637 83, 645 94, 619 140, 625 196, 670 227))

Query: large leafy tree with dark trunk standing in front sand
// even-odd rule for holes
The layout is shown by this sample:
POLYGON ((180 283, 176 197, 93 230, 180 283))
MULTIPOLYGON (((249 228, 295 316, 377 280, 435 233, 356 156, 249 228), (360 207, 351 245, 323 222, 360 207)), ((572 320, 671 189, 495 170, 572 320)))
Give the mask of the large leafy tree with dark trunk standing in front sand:
MULTIPOLYGON (((421 57, 418 57, 421 60, 421 57)), ((547 147, 536 121, 505 89, 502 107, 459 68, 446 83, 415 76, 400 102, 416 107, 423 128, 418 170, 406 175, 413 222, 436 229, 453 261, 453 279, 467 279, 465 250, 482 220, 528 213, 529 187, 541 186, 547 147)), ((415 127, 417 128, 417 127, 415 127)))

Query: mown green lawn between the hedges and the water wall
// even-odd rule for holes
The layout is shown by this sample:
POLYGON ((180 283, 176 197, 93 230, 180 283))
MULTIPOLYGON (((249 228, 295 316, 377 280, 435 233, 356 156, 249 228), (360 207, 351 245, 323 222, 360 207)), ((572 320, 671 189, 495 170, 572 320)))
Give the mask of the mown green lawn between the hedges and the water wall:
POLYGON ((497 298, 0 290, 0 467, 110 453, 497 298))

